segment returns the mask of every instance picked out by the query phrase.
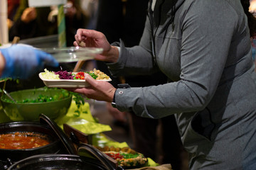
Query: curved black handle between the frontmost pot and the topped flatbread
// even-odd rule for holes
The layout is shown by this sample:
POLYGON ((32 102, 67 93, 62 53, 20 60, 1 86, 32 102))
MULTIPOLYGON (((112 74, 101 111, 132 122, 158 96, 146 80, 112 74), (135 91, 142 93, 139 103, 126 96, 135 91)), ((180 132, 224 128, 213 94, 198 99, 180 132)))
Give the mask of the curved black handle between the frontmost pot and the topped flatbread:
POLYGON ((108 170, 124 170, 122 166, 118 166, 116 160, 108 157, 107 154, 100 152, 100 150, 92 147, 92 145, 88 145, 85 143, 80 144, 80 147, 78 147, 78 155, 80 157, 85 156, 84 154, 82 154, 83 152, 87 152, 90 154, 90 156, 100 160, 100 162, 102 162, 102 164, 104 164, 108 170))

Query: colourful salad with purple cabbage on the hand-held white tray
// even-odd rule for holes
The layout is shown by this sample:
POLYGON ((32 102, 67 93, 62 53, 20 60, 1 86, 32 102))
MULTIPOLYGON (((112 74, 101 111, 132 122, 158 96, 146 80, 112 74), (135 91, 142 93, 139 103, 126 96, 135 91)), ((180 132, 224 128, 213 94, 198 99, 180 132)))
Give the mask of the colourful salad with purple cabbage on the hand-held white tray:
POLYGON ((45 72, 42 73, 43 79, 75 79, 75 80, 82 80, 85 79, 85 73, 90 74, 93 79, 97 80, 107 80, 110 79, 107 74, 104 72, 100 72, 99 69, 93 69, 90 72, 67 72, 60 70, 58 72, 48 71, 44 69, 45 72))

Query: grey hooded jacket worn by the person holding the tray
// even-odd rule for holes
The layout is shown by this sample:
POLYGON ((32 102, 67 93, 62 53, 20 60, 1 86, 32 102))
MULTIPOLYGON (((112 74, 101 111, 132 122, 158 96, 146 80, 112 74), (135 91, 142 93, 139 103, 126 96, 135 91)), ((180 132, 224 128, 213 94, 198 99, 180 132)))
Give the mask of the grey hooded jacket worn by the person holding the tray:
POLYGON ((190 169, 256 169, 255 66, 240 0, 157 0, 140 44, 121 41, 108 66, 116 76, 166 74, 166 84, 117 89, 117 108, 174 114, 190 169))

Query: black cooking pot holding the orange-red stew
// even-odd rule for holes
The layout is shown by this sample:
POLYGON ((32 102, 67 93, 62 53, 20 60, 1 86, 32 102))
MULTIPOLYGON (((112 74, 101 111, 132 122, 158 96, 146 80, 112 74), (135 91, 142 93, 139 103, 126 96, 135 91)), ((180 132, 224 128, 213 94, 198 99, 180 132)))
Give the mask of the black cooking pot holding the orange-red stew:
POLYGON ((11 159, 12 162, 17 162, 36 154, 66 153, 65 149, 63 149, 62 142, 48 125, 37 122, 1 123, 0 134, 9 132, 38 132, 46 135, 50 144, 32 149, 0 149, 0 160, 2 162, 6 162, 6 159, 11 159))

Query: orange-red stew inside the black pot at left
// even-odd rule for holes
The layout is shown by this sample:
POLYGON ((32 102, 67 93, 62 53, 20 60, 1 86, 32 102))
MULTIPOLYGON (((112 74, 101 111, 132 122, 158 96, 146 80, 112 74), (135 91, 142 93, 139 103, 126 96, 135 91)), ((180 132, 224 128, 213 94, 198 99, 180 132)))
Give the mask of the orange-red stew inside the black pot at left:
POLYGON ((31 149, 48 145, 45 135, 35 132, 0 134, 0 149, 31 149))

